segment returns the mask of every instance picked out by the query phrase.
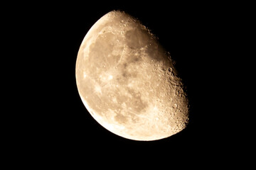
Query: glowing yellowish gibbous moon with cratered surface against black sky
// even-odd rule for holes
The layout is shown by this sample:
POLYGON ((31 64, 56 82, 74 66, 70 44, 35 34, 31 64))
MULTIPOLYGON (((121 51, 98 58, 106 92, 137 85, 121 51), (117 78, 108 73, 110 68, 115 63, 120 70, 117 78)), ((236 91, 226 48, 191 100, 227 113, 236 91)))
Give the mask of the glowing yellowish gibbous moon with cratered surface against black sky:
POLYGON ((116 135, 160 140, 188 124, 188 97, 169 52, 123 11, 110 11, 90 28, 75 77, 87 111, 116 135))

